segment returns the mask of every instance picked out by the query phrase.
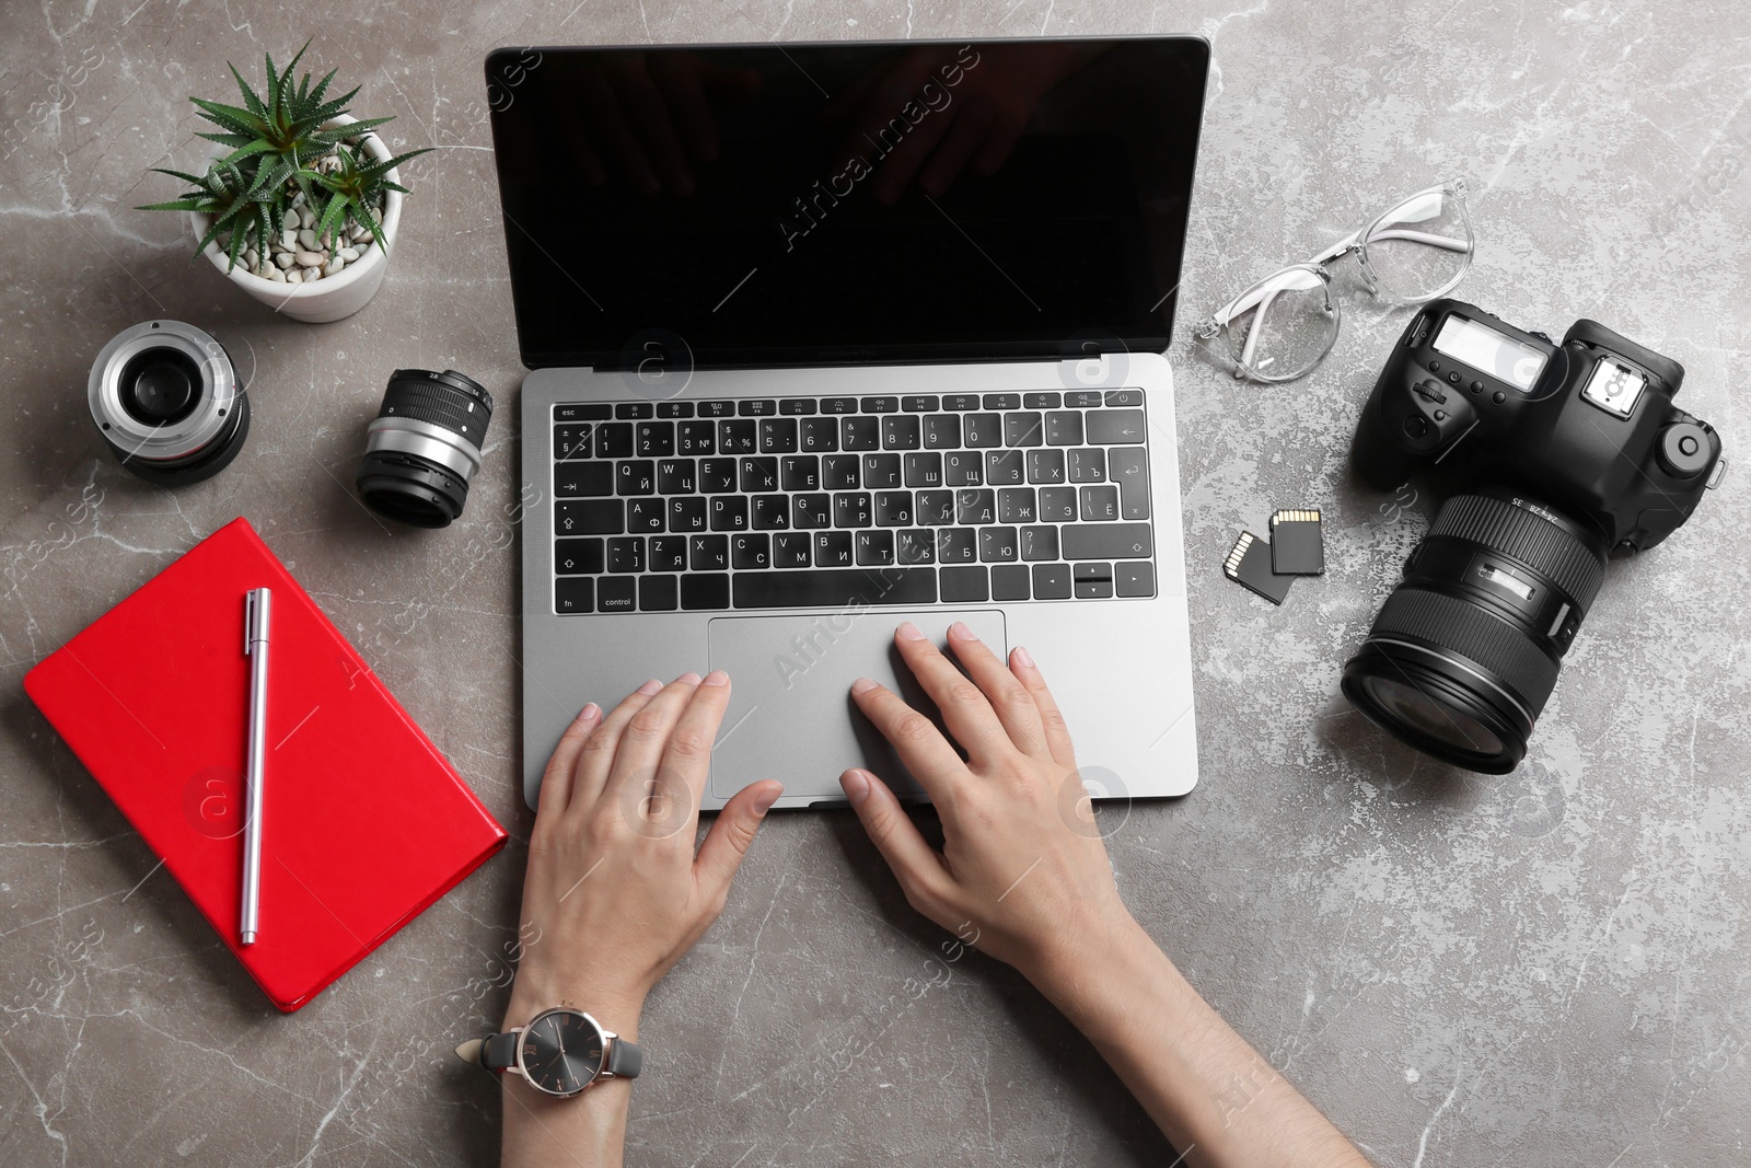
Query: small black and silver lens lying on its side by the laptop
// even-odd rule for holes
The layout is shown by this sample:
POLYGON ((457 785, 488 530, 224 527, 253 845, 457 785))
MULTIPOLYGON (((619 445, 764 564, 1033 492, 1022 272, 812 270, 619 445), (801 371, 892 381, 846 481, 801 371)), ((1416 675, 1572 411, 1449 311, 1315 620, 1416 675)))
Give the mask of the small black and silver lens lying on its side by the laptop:
POLYGON ((492 394, 455 369, 396 369, 366 431, 359 497, 415 527, 447 527, 468 504, 468 483, 492 422, 492 394))

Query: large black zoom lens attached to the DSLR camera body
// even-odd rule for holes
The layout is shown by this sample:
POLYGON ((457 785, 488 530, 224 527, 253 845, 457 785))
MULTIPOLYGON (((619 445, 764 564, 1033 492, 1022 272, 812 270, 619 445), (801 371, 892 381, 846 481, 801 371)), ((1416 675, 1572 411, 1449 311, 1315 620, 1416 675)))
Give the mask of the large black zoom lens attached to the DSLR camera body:
POLYGON ((1508 774, 1606 578, 1590 529, 1506 489, 1452 496, 1404 566, 1343 692, 1443 762, 1508 774))

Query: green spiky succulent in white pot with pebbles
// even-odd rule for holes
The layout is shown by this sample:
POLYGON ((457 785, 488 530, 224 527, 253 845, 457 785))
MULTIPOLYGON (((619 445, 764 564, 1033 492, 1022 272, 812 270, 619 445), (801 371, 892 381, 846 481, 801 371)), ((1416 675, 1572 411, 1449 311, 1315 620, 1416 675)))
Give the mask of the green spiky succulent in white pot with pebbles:
POLYGON ((201 252, 245 292, 294 320, 340 320, 376 294, 401 224, 399 165, 425 154, 390 154, 373 130, 390 117, 355 119, 357 88, 327 98, 334 72, 312 84, 268 54, 268 86, 256 93, 231 68, 243 105, 189 98, 219 130, 207 173, 154 170, 189 184, 166 203, 138 210, 187 212, 201 252), (326 100, 327 98, 327 100, 326 100))

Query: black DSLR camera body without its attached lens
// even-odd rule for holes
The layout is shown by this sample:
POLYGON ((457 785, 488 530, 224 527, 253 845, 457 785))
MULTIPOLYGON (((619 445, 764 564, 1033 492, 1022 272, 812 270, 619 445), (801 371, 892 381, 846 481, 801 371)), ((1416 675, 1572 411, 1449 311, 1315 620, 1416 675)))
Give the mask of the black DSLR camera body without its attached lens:
POLYGON ((1431 301, 1375 382, 1352 461, 1390 490, 1418 469, 1513 485, 1581 520, 1611 557, 1676 531, 1725 469, 1672 405, 1684 368, 1593 320, 1562 345, 1474 305, 1431 301))

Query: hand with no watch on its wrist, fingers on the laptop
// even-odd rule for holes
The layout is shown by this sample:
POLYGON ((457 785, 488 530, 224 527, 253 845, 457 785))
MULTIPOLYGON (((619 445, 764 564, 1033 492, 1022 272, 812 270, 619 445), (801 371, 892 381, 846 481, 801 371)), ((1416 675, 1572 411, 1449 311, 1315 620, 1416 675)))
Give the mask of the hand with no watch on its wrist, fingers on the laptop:
POLYGON ((851 695, 930 793, 942 851, 867 770, 839 779, 851 806, 914 909, 1035 984, 1077 977, 1091 940, 1138 926, 1119 900, 1045 678, 1026 650, 1005 665, 960 622, 949 644, 965 676, 911 622, 895 644, 967 760, 898 693, 860 678, 851 695))

